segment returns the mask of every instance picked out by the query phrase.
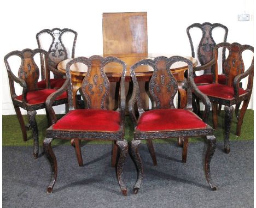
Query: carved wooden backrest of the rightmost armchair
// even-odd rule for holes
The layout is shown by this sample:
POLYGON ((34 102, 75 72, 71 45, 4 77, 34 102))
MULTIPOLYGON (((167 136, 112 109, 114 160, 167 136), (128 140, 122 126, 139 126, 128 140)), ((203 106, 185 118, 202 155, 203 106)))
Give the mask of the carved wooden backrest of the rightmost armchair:
MULTIPOLYGON (((221 47, 226 48, 229 51, 229 56, 226 58, 223 64, 223 72, 226 76, 226 84, 232 86, 234 84, 235 77, 245 72, 245 64, 243 63, 242 52, 246 50, 254 52, 254 47, 249 45, 241 45, 237 42, 233 42, 232 44, 228 42, 217 44, 214 47, 214 56, 216 57, 216 70, 218 70, 218 50, 221 47)), ((254 59, 252 59, 251 65, 253 65, 253 63, 254 59)), ((248 80, 249 82, 253 81, 253 70, 249 74, 248 80)), ((216 82, 218 82, 218 80, 216 82)))

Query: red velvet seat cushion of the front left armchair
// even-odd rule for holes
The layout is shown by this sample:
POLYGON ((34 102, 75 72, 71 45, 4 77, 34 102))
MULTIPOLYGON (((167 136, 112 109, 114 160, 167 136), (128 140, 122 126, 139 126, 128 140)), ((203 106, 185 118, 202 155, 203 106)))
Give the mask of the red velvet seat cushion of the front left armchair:
POLYGON ((53 125, 54 130, 118 131, 120 114, 101 109, 75 109, 53 125))

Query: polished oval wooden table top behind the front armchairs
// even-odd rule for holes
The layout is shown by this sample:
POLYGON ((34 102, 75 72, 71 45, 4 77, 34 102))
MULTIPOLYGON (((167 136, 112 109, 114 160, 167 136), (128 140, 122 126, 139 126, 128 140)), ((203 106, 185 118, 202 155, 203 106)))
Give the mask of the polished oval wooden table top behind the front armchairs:
MULTIPOLYGON (((117 57, 121 60, 123 60, 126 64, 126 76, 131 76, 130 75, 130 68, 133 64, 137 63, 139 60, 142 59, 154 59, 155 57, 158 56, 166 56, 166 57, 172 57, 174 55, 170 54, 156 54, 156 53, 130 53, 130 54, 107 54, 104 55, 103 57, 107 56, 114 56, 117 57)), ((184 58, 187 58, 191 60, 193 63, 193 66, 197 65, 197 60, 193 57, 188 57, 188 56, 182 56, 184 58)), ((72 60, 66 59, 63 60, 62 62, 59 63, 57 66, 57 69, 60 70, 63 73, 66 73, 66 65, 67 63, 72 60)), ((104 67, 104 71, 106 72, 108 77, 120 77, 121 76, 121 65, 118 63, 109 63, 104 67)), ((185 71, 188 69, 188 65, 184 62, 176 62, 171 66, 171 71, 173 73, 185 71)), ((75 63, 71 65, 71 75, 73 76, 85 76, 87 72, 87 66, 83 63, 75 63)), ((139 66, 136 69, 136 76, 148 76, 152 75, 153 73, 153 68, 151 66, 139 66)))

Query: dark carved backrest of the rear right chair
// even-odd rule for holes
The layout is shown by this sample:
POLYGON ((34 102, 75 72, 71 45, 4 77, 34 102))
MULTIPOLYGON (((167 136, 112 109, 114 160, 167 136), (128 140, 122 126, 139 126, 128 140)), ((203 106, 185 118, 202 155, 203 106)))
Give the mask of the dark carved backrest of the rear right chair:
MULTIPOLYGON (((202 30, 202 38, 197 47, 197 59, 201 65, 205 65, 210 62, 213 58, 213 48, 216 46, 216 42, 213 39, 212 32, 214 28, 223 28, 225 33, 223 37, 223 42, 226 42, 226 38, 228 36, 228 28, 220 23, 194 23, 187 28, 187 34, 191 47, 191 56, 195 58, 195 49, 193 45, 193 41, 190 35, 191 28, 200 28, 202 30)), ((196 45, 196 44, 195 44, 196 45)), ((222 51, 222 62, 225 60, 225 49, 222 51)), ((204 70, 204 74, 212 74, 214 68, 209 68, 204 70)))

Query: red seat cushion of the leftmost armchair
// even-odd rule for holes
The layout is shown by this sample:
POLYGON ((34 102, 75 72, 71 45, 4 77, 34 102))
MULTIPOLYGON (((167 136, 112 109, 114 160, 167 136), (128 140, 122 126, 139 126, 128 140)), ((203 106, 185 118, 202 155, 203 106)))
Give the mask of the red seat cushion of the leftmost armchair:
MULTIPOLYGON (((57 91, 56 89, 41 89, 37 91, 30 91, 27 93, 27 103, 31 105, 36 105, 39 103, 44 103, 47 99, 47 97, 57 91)), ((56 100, 65 99, 67 98, 67 92, 63 93, 59 97, 56 98, 56 100)), ((16 97, 17 100, 22 101, 22 95, 19 95, 16 97)))

